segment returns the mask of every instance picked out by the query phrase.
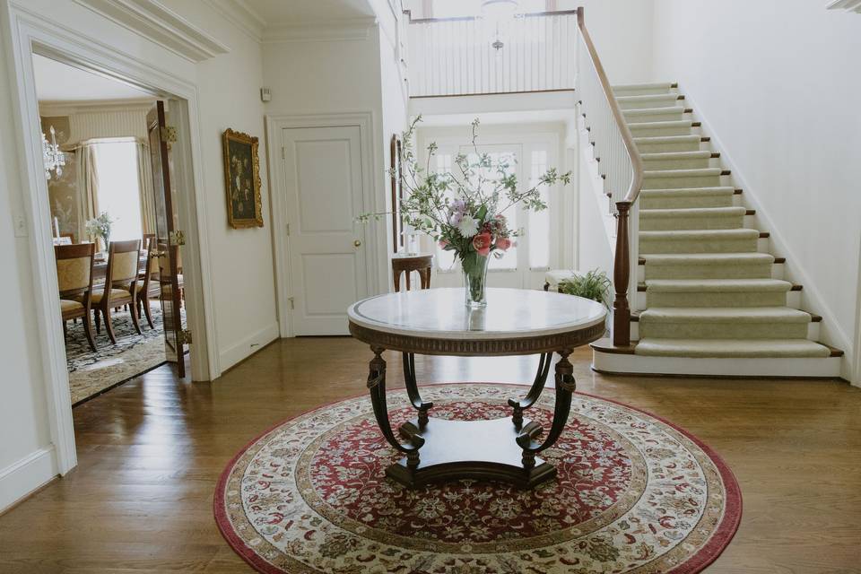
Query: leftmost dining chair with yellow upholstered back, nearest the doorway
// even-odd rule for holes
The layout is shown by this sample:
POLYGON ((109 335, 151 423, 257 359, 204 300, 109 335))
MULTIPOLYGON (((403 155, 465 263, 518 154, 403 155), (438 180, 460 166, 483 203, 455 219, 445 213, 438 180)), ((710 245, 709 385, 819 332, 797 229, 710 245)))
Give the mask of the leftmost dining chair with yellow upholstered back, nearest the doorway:
POLYGON ((82 317, 83 332, 84 335, 87 335, 87 342, 93 351, 96 351, 96 343, 92 338, 90 306, 92 300, 92 260, 95 252, 96 246, 92 243, 54 246, 63 335, 66 335, 66 321, 82 317))

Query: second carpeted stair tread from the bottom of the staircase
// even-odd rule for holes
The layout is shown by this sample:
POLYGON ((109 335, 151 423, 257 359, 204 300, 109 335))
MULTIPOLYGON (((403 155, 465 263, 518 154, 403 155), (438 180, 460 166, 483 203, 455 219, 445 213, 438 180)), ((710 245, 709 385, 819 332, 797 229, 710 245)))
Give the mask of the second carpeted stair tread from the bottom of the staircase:
POLYGON ((661 307, 639 314, 642 326, 652 322, 671 323, 810 323, 810 313, 789 307, 661 307))

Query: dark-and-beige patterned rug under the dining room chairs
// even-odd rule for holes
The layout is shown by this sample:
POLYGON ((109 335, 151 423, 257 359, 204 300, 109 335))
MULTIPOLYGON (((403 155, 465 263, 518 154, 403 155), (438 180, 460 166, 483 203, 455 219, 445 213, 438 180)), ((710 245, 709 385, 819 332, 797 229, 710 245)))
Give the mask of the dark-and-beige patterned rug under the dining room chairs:
MULTIPOLYGON (((101 333, 95 335, 96 352, 92 352, 83 334, 83 323, 66 323, 65 358, 69 368, 69 387, 72 391, 72 404, 100 394, 101 392, 134 378, 147 370, 152 370, 166 361, 164 338, 161 330, 161 305, 150 301, 152 324, 150 328, 146 317, 141 317, 143 335, 138 335, 128 311, 113 313, 114 333, 117 344, 112 344, 102 325, 101 333)), ((185 309, 182 309, 185 323, 185 309)))

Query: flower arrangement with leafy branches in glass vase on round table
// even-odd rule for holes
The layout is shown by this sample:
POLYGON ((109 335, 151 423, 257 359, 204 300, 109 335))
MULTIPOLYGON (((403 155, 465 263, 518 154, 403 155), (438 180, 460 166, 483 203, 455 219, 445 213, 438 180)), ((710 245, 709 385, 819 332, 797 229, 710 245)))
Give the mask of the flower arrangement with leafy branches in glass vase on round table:
POLYGON ((401 178, 408 194, 401 202, 401 213, 408 225, 430 235, 441 248, 455 252, 464 272, 466 304, 483 307, 489 257, 502 257, 516 245, 515 238, 523 234, 523 230, 509 227, 506 212, 517 204, 523 204, 526 210, 546 209, 541 187, 569 183, 570 171, 547 170, 537 178, 535 186, 519 188, 517 175, 511 170, 514 159, 494 159, 479 150, 477 118, 472 123, 474 152, 457 154, 455 170, 431 170, 437 144, 428 146, 424 166, 413 150, 413 135, 421 120, 421 116, 416 117, 403 135, 401 178))

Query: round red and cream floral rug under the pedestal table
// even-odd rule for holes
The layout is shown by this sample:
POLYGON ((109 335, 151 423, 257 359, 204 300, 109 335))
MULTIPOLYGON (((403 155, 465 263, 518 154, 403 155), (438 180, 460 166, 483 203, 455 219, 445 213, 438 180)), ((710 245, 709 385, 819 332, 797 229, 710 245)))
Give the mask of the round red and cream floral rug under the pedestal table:
MULTIPOLYGON (((422 387, 431 416, 509 417, 527 387, 422 387)), ((550 428, 553 391, 526 413, 550 428)), ((414 416, 388 393, 393 428, 414 416)), ((215 519, 266 573, 534 574, 699 572, 741 517, 738 484, 690 434, 648 413, 576 394, 541 455, 558 476, 535 490, 461 480, 409 490, 385 476, 401 455, 370 398, 320 407, 252 441, 225 469, 215 519)))

